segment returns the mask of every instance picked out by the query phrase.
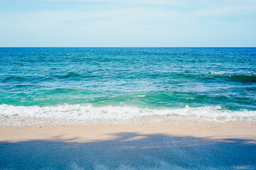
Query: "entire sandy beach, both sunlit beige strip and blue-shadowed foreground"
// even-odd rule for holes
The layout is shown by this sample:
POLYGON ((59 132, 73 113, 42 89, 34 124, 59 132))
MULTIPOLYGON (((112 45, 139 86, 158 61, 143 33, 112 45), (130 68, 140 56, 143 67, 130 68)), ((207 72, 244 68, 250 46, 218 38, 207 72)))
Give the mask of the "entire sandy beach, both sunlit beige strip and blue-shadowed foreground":
POLYGON ((256 123, 0 128, 1 169, 256 169, 256 123))

